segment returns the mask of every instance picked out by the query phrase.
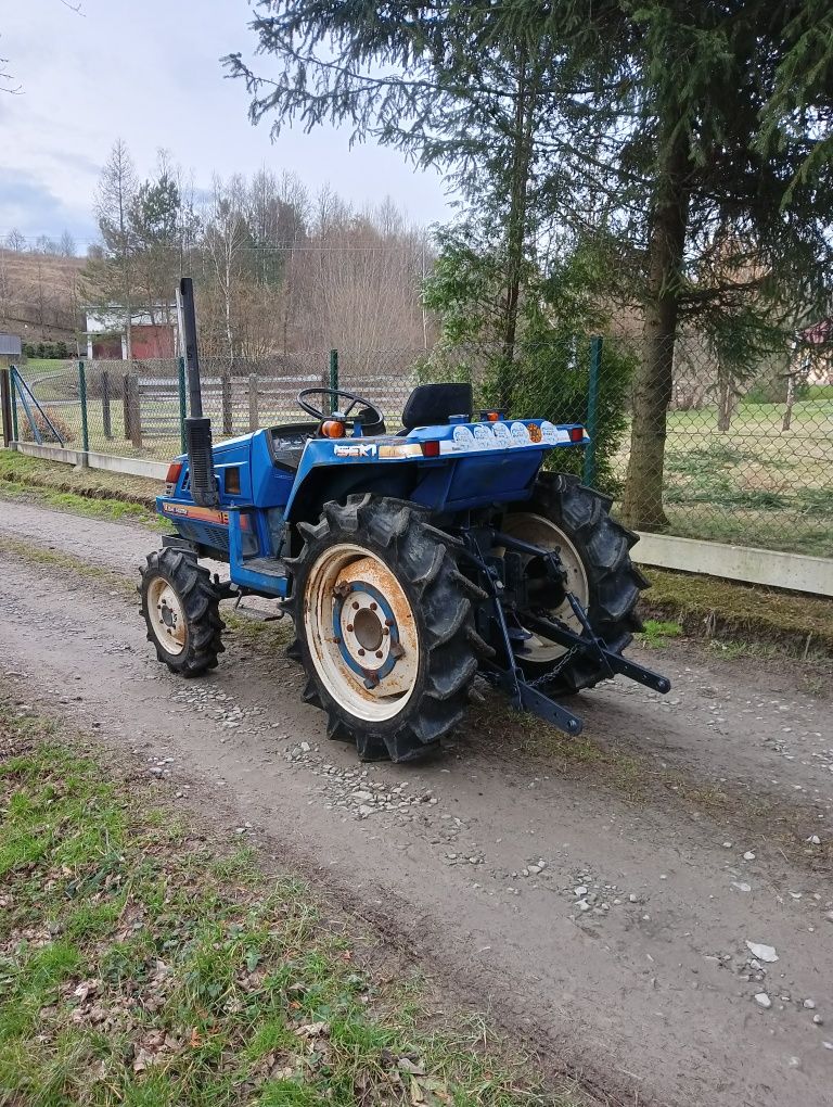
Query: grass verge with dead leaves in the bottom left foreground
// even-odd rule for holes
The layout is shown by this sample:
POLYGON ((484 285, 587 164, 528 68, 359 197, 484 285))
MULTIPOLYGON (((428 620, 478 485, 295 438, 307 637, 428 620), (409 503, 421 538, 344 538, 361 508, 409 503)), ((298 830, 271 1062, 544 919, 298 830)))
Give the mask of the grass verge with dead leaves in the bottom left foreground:
POLYGON ((0 695, 0 1088, 30 1107, 569 1107, 481 1020, 0 695))

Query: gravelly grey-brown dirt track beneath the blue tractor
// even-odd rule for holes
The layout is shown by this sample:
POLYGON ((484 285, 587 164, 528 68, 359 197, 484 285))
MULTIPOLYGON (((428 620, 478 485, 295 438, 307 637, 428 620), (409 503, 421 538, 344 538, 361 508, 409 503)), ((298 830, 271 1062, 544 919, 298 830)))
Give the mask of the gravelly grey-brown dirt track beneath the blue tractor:
MULTIPOLYGON (((125 573, 158 544, 9 503, 2 535, 125 573)), ((493 701, 442 758, 362 767, 283 658, 232 648, 185 683, 121 593, 0 561, 0 672, 22 701, 94 727, 231 834, 251 823, 554 1068, 625 1103, 833 1105, 833 726, 789 674, 678 650, 649 655, 675 682, 665 701, 626 684, 582 699, 592 743, 626 751, 632 774, 679 773, 685 803, 673 784, 646 800, 606 767, 519 758, 493 701), (785 825, 821 846, 791 849, 785 825), (778 961, 750 966, 747 941, 778 961)))

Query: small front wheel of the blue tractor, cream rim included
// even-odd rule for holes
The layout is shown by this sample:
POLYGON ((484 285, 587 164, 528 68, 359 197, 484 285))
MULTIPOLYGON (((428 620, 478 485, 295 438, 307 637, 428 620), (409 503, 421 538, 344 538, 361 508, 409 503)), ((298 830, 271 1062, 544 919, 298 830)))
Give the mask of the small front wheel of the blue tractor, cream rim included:
POLYGON ((139 572, 139 611, 159 661, 180 676, 216 669, 225 623, 208 569, 195 557, 165 547, 148 554, 139 572))

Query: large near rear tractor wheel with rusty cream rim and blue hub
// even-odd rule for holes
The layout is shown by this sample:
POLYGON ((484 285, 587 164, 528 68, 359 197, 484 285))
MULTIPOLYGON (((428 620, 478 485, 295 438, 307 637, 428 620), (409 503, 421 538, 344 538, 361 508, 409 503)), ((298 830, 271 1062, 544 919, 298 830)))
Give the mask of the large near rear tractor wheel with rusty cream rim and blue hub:
POLYGON ((405 501, 351 496, 299 529, 290 652, 309 677, 304 700, 363 761, 424 755, 462 718, 477 654, 489 652, 473 625, 479 590, 405 501))

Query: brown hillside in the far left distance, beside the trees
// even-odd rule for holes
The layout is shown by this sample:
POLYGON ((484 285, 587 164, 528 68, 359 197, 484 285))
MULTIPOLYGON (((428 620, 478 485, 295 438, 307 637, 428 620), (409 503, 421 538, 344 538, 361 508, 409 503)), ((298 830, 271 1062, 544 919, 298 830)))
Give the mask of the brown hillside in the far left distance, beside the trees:
POLYGON ((83 258, 0 248, 0 330, 24 342, 71 339, 83 258))

